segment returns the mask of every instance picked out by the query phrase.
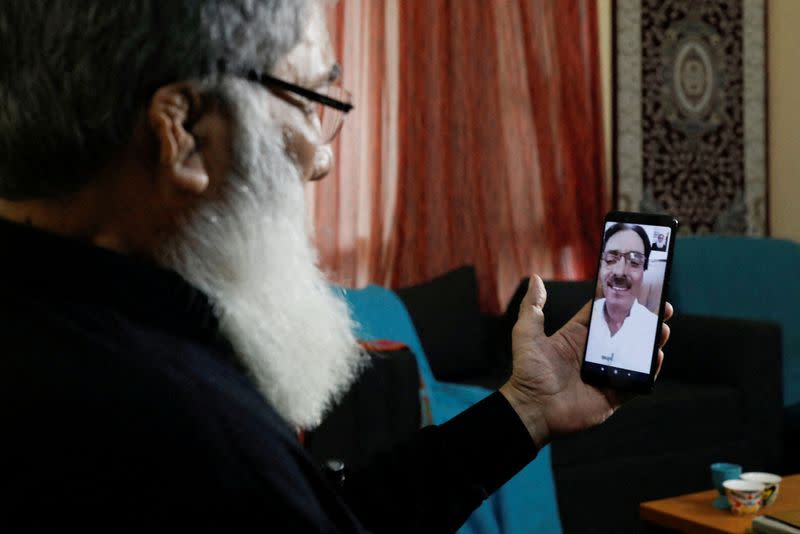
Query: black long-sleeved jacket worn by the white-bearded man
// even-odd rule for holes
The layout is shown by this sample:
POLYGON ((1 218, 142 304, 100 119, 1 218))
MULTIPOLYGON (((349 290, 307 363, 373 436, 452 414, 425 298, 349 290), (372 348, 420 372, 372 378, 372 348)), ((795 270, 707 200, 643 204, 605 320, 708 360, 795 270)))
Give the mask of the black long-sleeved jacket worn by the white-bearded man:
POLYGON ((177 274, 2 221, 0 250, 0 530, 452 531, 535 456, 495 393, 340 491, 177 274))

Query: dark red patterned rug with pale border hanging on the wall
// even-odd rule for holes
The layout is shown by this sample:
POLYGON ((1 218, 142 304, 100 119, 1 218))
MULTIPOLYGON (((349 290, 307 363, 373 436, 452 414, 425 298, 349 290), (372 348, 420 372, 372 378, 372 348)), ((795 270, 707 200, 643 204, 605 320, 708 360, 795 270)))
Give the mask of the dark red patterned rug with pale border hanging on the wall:
POLYGON ((766 235, 763 0, 617 0, 616 202, 766 235))

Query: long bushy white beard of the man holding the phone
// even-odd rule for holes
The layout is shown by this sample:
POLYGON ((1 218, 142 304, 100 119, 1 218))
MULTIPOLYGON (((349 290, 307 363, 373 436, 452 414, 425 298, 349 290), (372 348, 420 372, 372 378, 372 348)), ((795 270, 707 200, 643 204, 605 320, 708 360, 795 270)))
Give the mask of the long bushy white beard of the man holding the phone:
POLYGON ((211 299, 221 332, 271 405, 311 429, 366 357, 346 303, 317 268, 299 171, 249 82, 223 83, 232 116, 233 170, 222 198, 188 220, 163 265, 211 299))

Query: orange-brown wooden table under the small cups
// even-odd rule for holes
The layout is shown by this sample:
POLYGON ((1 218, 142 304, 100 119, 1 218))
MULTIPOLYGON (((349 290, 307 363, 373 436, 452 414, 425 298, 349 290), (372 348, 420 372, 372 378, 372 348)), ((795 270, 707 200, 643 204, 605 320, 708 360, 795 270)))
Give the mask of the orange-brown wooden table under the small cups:
MULTIPOLYGON (((714 508, 711 503, 717 495, 717 490, 709 490, 643 502, 639 505, 639 515, 644 521, 692 534, 747 532, 755 515, 736 516, 728 510, 714 508)), ((756 515, 798 508, 800 474, 783 477, 777 500, 756 515)))

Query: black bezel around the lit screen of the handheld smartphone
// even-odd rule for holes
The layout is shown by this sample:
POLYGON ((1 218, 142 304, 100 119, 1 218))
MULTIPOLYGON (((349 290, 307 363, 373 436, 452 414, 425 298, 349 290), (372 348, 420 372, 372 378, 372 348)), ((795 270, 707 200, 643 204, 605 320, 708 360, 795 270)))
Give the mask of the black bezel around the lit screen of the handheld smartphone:
MULTIPOLYGON (((667 264, 664 267, 664 285, 661 290, 661 300, 658 305, 658 325, 664 321, 664 306, 667 302, 667 292, 669 290, 669 280, 670 275, 672 273, 672 260, 674 257, 675 252, 675 238, 678 231, 678 219, 671 216, 671 215, 661 215, 661 214, 650 214, 650 213, 633 213, 633 212, 625 212, 625 211, 612 211, 609 212, 605 218, 603 219, 603 226, 602 232, 600 234, 600 243, 602 247, 603 243, 603 236, 605 235, 606 225, 609 222, 621 222, 621 223, 630 223, 630 224, 645 224, 651 226, 666 226, 670 228, 670 238, 669 243, 667 244, 667 264)), ((592 286, 592 298, 591 301, 594 303, 595 295, 597 291, 597 285, 599 283, 600 277, 600 254, 602 254, 602 250, 600 250, 597 254, 597 269, 594 276, 594 285, 592 286)), ((581 379, 593 386, 598 387, 610 387, 617 390, 624 390, 624 391, 633 391, 636 393, 650 393, 655 388, 655 372, 658 365, 658 342, 661 337, 661 328, 656 328, 655 336, 653 338, 653 352, 650 358, 650 372, 646 375, 646 379, 639 380, 634 378, 628 378, 626 376, 620 375, 612 375, 610 372, 594 372, 591 367, 587 367, 586 361, 586 352, 588 351, 588 340, 589 340, 589 327, 592 324, 592 311, 593 306, 589 310, 589 323, 586 328, 586 344, 584 345, 583 349, 583 359, 581 361, 581 379)), ((621 369, 621 368, 614 368, 609 366, 612 369, 621 369)), ((644 373, 636 373, 636 375, 640 375, 644 373)))

